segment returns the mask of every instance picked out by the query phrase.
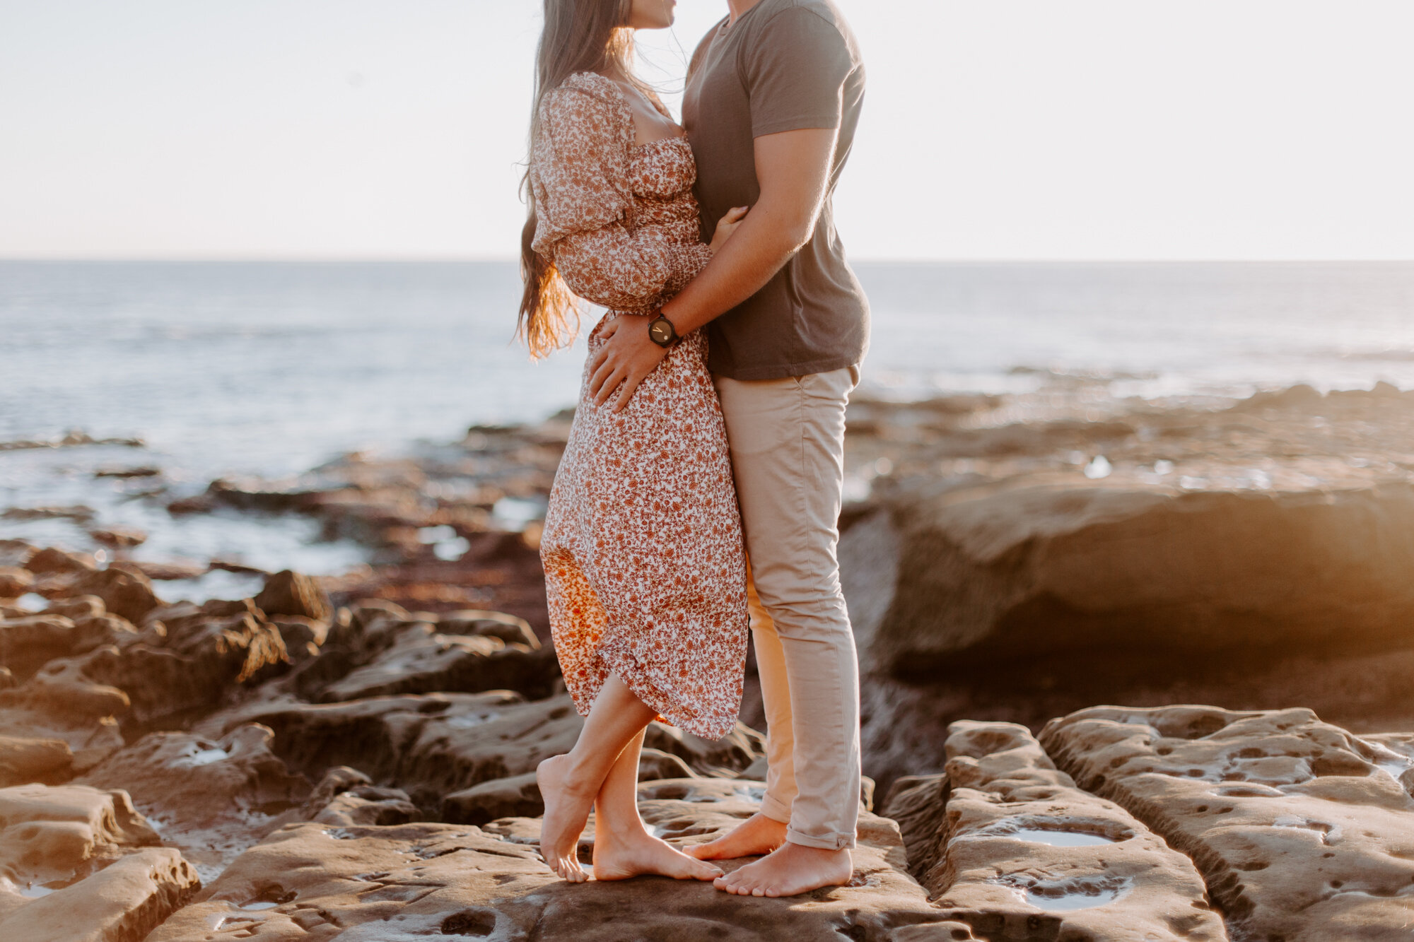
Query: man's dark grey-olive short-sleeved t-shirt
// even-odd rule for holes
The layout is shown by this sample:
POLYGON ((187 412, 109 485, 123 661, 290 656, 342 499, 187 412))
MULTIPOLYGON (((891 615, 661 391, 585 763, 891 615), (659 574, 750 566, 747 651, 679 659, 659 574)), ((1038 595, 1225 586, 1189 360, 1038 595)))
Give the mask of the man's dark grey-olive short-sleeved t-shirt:
POLYGON ((831 205, 863 99, 864 64, 830 0, 761 0, 735 23, 713 27, 693 54, 683 126, 697 157, 704 239, 728 209, 761 195, 755 137, 839 129, 810 240, 759 291, 708 324, 714 373, 781 379, 864 358, 868 303, 844 260, 831 205))

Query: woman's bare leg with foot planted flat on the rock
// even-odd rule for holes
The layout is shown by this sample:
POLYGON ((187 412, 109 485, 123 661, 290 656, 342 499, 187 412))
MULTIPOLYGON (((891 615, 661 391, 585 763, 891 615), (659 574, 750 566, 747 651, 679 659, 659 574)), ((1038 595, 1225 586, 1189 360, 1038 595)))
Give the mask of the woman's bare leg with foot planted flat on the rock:
POLYGON ((693 860, 653 837, 638 816, 638 755, 643 731, 629 740, 594 802, 594 878, 626 880, 652 873, 674 880, 715 880, 717 867, 693 860))

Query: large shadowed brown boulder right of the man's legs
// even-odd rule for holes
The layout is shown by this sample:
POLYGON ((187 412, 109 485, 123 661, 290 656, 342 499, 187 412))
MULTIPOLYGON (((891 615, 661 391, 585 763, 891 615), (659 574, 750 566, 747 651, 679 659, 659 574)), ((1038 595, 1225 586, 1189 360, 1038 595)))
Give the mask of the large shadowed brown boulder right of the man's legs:
POLYGON ((1370 651, 1406 644, 1414 618, 1403 482, 1182 492, 1032 474, 889 502, 899 564, 867 661, 899 676, 1090 649, 1370 651))

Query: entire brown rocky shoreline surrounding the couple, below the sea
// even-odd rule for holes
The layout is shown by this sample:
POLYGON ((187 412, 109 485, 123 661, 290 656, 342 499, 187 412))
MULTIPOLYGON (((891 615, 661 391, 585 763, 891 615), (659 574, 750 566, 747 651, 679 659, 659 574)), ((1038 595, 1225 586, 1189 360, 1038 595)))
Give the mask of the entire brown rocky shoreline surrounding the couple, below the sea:
MULTIPOLYGON (((570 419, 151 488, 368 547, 249 598, 168 601, 242 567, 140 533, 0 540, 0 938, 1411 938, 1414 393, 851 403, 871 809, 851 885, 793 901, 537 861, 580 726, 537 559, 570 419)), ((656 833, 759 802, 756 690, 720 743, 650 730, 656 833)))

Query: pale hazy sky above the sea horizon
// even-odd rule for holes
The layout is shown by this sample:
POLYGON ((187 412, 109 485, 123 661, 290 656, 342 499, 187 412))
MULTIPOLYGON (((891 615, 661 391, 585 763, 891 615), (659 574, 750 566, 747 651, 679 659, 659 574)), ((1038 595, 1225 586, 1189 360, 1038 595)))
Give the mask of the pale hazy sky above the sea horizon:
MULTIPOLYGON (((839 6, 854 257, 1414 257, 1408 0, 839 6)), ((0 257, 512 257, 539 11, 0 0, 0 257)))

